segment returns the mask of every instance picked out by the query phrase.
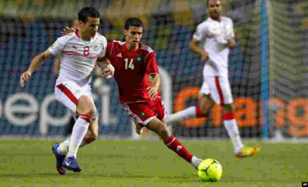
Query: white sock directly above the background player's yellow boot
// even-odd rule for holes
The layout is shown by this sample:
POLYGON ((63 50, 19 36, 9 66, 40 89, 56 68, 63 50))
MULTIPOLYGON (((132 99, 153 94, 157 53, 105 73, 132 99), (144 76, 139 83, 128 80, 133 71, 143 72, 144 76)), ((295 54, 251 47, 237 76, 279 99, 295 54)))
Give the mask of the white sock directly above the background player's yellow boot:
POLYGON ((240 132, 238 131, 236 120, 235 119, 224 120, 224 125, 225 125, 225 128, 227 129, 227 132, 233 144, 234 153, 236 154, 243 147, 243 143, 241 141, 241 136, 240 136, 240 132))

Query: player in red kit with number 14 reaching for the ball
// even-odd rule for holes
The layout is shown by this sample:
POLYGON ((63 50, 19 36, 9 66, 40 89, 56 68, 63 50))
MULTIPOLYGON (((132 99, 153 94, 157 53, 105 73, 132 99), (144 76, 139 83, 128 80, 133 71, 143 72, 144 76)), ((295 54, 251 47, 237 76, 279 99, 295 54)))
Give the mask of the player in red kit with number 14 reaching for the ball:
MULTIPOLYGON (((140 42, 143 22, 138 18, 127 19, 123 33, 125 42, 108 42, 105 56, 115 68, 120 103, 135 120, 137 130, 146 127, 155 132, 169 149, 197 169, 202 160, 190 154, 168 130, 164 119, 166 111, 158 90, 160 78, 155 52, 140 42)), ((103 69, 105 75, 109 72, 107 68, 103 69)))

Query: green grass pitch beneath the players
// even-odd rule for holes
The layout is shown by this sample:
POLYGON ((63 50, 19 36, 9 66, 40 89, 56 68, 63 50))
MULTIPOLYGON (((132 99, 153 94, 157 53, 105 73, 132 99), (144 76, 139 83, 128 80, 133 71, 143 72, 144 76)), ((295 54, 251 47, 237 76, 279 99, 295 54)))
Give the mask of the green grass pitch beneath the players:
POLYGON ((221 181, 205 183, 160 141, 97 140, 79 149, 81 173, 60 176, 50 140, 0 139, 0 186, 301 186, 308 181, 307 143, 260 145, 251 158, 235 158, 229 141, 182 141, 199 158, 215 158, 221 181))

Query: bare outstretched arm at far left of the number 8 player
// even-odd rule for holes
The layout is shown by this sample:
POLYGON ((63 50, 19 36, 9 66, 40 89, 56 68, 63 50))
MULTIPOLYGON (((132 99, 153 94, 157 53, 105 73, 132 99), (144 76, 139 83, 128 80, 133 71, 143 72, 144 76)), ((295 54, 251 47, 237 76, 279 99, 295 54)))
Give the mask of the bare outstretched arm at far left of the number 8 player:
POLYGON ((48 49, 44 51, 43 53, 40 53, 39 55, 34 56, 28 70, 26 72, 23 72, 20 76, 20 81, 19 81, 20 86, 24 87, 25 82, 29 81, 31 74, 34 71, 38 70, 41 64, 43 63, 43 61, 46 60, 47 58, 50 58, 51 56, 52 55, 48 49))

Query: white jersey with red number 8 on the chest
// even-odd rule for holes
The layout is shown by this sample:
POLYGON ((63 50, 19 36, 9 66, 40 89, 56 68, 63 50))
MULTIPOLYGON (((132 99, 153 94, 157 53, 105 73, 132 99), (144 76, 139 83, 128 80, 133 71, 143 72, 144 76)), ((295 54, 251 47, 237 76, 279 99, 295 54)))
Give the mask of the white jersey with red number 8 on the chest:
POLYGON ((49 48, 53 56, 61 56, 57 82, 73 81, 78 85, 91 82, 96 59, 104 57, 107 48, 106 38, 96 33, 91 41, 79 38, 77 32, 59 37, 49 48))

